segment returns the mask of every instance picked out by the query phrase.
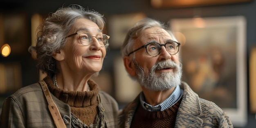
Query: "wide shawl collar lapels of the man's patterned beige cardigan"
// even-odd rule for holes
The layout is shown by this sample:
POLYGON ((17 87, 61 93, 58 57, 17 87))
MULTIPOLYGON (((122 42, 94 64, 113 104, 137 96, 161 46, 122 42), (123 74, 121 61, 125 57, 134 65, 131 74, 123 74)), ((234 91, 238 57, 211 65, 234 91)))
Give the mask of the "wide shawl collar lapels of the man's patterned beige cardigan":
MULTIPOLYGON (((193 92, 193 90, 189 87, 189 85, 182 81, 180 88, 184 90, 182 101, 180 107, 178 109, 175 128, 181 128, 184 123, 186 126, 191 128, 200 128, 202 127, 202 119, 198 117, 202 113, 201 105, 199 102, 198 94, 193 92)), ((125 113, 119 114, 119 122, 123 122, 125 127, 130 128, 130 124, 132 122, 132 118, 134 116, 135 110, 139 105, 139 96, 136 97, 134 101, 128 104, 126 108, 123 110, 125 113)))

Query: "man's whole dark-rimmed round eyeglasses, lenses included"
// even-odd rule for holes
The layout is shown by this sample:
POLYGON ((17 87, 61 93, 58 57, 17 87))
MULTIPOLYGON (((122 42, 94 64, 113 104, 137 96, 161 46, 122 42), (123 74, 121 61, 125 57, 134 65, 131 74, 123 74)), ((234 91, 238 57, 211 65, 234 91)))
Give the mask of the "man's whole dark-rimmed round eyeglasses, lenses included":
POLYGON ((133 50, 132 52, 130 52, 128 54, 128 56, 130 56, 130 54, 138 51, 139 49, 142 49, 143 47, 146 48, 146 51, 150 56, 157 56, 161 52, 161 46, 164 46, 166 51, 170 55, 174 55, 174 54, 177 54, 179 52, 180 45, 181 45, 181 43, 178 43, 178 42, 175 42, 175 41, 170 41, 170 42, 167 42, 165 44, 159 44, 158 42, 153 41, 153 42, 147 43, 146 45, 143 45, 143 46, 133 50))

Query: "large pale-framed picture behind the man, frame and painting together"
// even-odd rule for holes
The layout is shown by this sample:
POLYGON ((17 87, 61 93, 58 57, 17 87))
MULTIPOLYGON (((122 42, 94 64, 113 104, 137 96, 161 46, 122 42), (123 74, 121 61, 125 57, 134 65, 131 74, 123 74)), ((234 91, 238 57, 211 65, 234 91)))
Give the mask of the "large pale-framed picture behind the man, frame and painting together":
POLYGON ((247 124, 246 19, 243 16, 171 19, 183 64, 182 81, 199 97, 247 124))

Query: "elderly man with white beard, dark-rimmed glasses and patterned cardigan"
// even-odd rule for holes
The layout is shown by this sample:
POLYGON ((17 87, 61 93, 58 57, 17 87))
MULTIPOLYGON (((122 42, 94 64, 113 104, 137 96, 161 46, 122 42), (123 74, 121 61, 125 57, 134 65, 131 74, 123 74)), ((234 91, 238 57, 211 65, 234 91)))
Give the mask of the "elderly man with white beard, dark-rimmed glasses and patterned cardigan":
POLYGON ((142 92, 119 113, 119 128, 233 128, 226 112, 181 81, 179 49, 157 20, 146 18, 130 29, 121 52, 142 92))

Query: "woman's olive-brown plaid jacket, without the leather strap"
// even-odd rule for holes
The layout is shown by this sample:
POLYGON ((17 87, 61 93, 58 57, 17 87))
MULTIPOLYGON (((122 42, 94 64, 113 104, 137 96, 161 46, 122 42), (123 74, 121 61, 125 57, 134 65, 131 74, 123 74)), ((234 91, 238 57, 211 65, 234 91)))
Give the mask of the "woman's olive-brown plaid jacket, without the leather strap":
MULTIPOLYGON (((93 84, 93 81, 91 81, 93 84)), ((90 87, 93 85, 90 82, 90 87)), ((53 82, 46 82, 49 90, 53 82)), ((52 93, 52 92, 51 92, 52 93)), ((57 99, 53 94, 52 98, 58 107, 61 117, 67 128, 71 128, 71 107, 57 99)), ((64 98, 65 99, 65 98, 64 98)), ((107 128, 116 128, 118 104, 109 94, 99 91, 99 110, 103 112, 107 128)), ((74 103, 75 104, 75 103, 74 103)), ((94 118, 94 117, 92 117, 94 118)), ((10 97, 4 100, 0 128, 55 128, 52 115, 48 109, 48 103, 39 83, 21 88, 10 97)))

